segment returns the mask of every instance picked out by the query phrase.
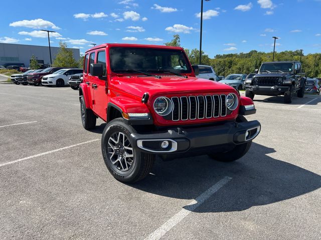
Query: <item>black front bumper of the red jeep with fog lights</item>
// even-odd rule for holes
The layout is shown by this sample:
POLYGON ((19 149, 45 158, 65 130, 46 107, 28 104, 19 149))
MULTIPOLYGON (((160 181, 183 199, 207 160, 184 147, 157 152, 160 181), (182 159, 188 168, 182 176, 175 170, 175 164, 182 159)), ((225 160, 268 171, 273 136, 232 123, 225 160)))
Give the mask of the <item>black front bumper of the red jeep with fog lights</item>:
POLYGON ((193 155, 193 153, 209 154, 215 151, 227 151, 235 145, 254 139, 261 130, 257 120, 247 122, 229 121, 222 125, 173 128, 151 134, 132 133, 131 142, 134 147, 143 152, 153 154, 180 154, 193 155), (162 148, 162 142, 168 141, 168 146, 162 148))

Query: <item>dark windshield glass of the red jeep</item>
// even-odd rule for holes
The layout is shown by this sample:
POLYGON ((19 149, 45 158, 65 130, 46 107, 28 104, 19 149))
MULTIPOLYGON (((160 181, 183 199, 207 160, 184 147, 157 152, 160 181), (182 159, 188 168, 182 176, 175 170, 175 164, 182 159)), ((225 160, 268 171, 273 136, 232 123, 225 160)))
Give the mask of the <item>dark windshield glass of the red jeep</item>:
POLYGON ((135 71, 155 73, 189 73, 192 72, 190 63, 181 50, 141 48, 141 47, 112 47, 109 50, 110 66, 113 72, 135 71), (178 67, 179 66, 179 67, 178 67))

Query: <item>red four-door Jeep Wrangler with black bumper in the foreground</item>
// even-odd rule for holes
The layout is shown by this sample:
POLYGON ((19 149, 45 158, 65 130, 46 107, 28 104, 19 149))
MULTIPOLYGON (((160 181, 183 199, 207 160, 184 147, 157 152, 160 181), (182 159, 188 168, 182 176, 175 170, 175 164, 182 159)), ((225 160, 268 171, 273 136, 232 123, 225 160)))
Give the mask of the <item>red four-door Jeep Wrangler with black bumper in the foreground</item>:
POLYGON ((107 122, 102 155, 117 180, 144 178, 156 155, 228 162, 249 150, 261 129, 244 117, 256 112, 252 99, 195 74, 182 47, 106 43, 86 51, 82 124, 107 122))

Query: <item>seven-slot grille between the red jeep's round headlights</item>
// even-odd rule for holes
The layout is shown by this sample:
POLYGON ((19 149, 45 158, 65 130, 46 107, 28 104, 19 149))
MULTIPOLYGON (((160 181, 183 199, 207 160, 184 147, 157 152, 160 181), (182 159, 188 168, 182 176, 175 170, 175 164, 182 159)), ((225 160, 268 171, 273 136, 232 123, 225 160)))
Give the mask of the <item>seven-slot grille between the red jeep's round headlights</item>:
POLYGON ((226 95, 174 96, 172 120, 195 120, 226 116, 226 95))

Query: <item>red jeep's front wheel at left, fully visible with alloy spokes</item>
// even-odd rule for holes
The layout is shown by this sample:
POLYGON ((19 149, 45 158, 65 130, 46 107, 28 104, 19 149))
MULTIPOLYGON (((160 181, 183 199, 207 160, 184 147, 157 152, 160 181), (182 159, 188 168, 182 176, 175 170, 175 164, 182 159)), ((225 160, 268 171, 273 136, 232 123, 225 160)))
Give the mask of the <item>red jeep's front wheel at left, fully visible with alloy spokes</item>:
POLYGON ((129 136, 135 132, 136 130, 131 125, 127 125, 124 119, 119 117, 108 122, 102 133, 101 151, 105 164, 113 177, 121 182, 132 183, 143 179, 149 174, 155 161, 155 155, 141 152, 138 148, 130 147, 133 146, 133 144, 130 142, 129 136), (117 149, 118 152, 116 152, 109 143, 115 144, 114 146, 117 146, 118 143, 111 140, 111 138, 117 138, 118 142, 119 140, 126 139, 124 141, 125 145, 127 145, 127 148, 132 148, 132 150, 124 148, 121 144, 121 146, 118 145, 120 147, 118 148, 119 150, 117 149), (124 155, 127 153, 132 154, 132 157, 127 157, 128 160, 122 157, 124 155, 120 155, 121 158, 119 158, 119 154, 123 154, 119 153, 119 151, 123 152, 124 150, 129 151, 129 153, 126 152, 124 155), (114 162, 112 161, 113 157, 117 157, 114 162), (125 169, 124 166, 126 166, 125 169))

